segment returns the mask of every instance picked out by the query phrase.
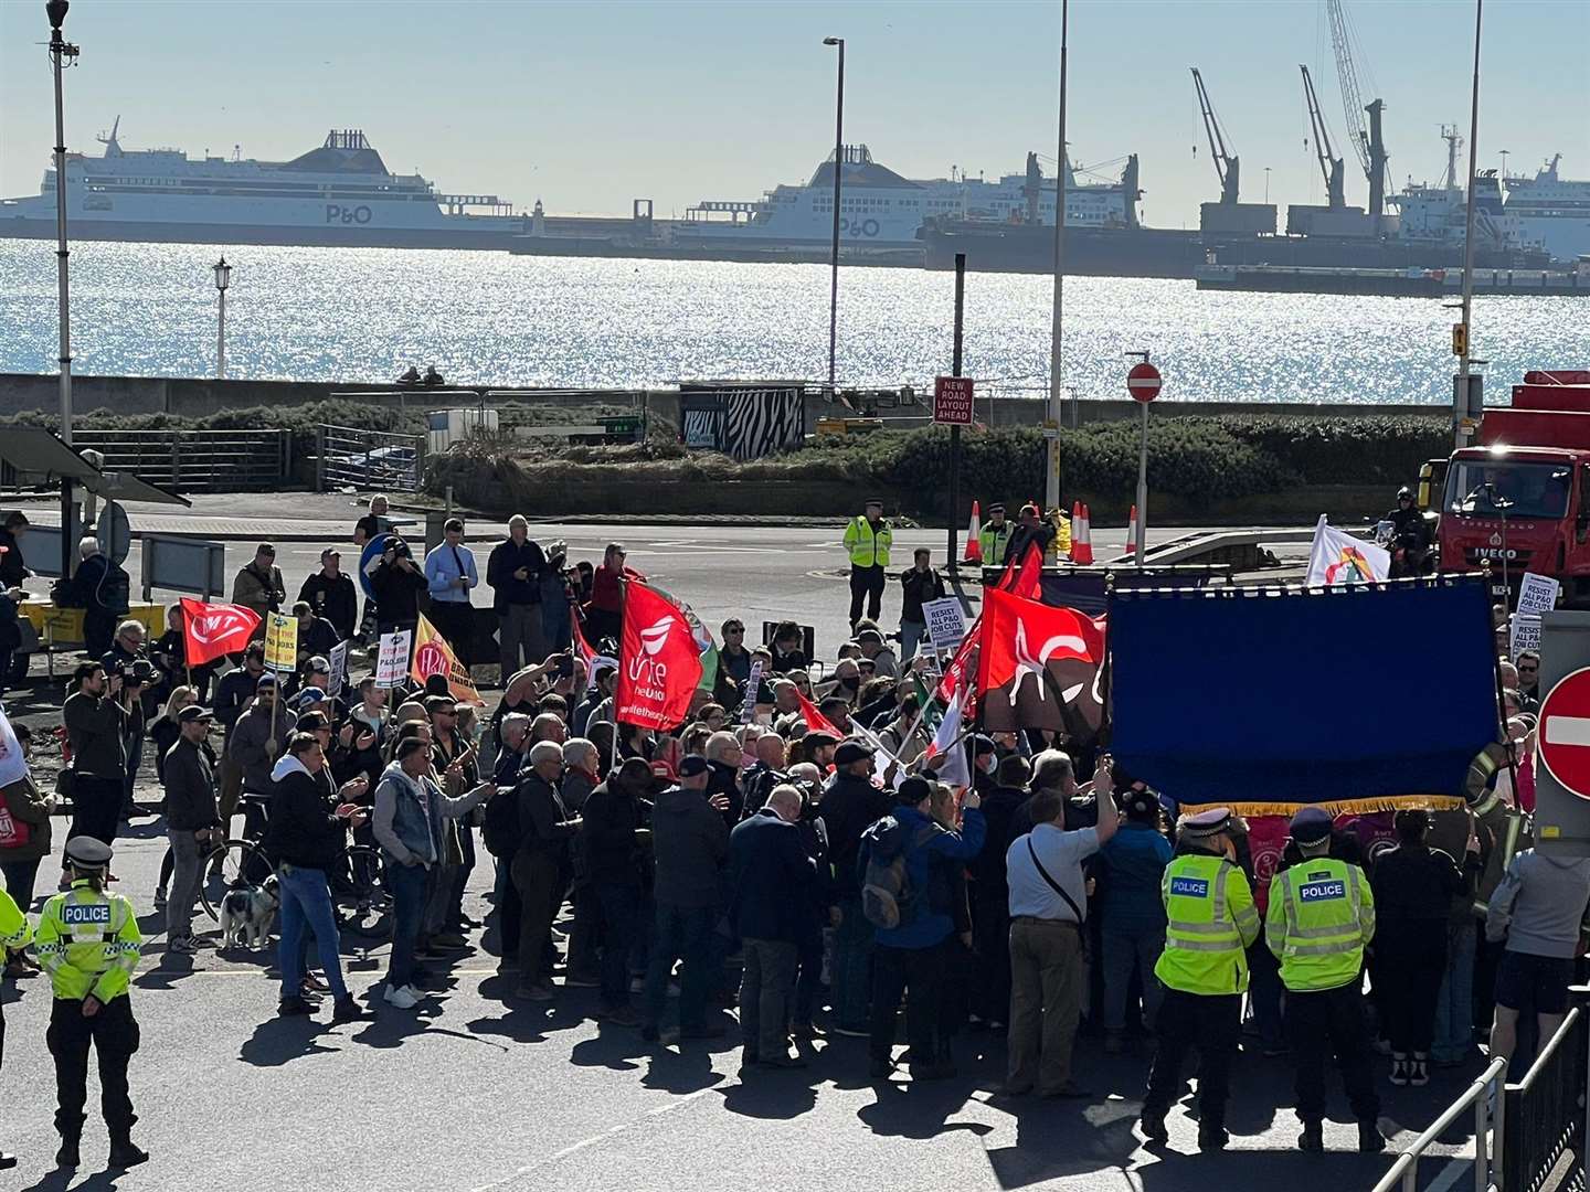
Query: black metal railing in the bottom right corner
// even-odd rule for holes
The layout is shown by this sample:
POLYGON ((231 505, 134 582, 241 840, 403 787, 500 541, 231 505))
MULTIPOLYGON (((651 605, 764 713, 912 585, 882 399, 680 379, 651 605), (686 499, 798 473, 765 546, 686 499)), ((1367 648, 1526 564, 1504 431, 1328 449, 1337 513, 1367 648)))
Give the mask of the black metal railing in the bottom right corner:
POLYGON ((1552 1187, 1585 1189, 1585 1047, 1590 1039, 1590 989, 1576 989, 1579 1004, 1518 1084, 1507 1086, 1507 1133, 1501 1155, 1506 1192, 1552 1187), (1573 1152, 1573 1154, 1569 1154, 1573 1152), (1571 1165, 1561 1171, 1565 1160, 1571 1165), (1577 1168, 1574 1171, 1573 1168, 1577 1168))

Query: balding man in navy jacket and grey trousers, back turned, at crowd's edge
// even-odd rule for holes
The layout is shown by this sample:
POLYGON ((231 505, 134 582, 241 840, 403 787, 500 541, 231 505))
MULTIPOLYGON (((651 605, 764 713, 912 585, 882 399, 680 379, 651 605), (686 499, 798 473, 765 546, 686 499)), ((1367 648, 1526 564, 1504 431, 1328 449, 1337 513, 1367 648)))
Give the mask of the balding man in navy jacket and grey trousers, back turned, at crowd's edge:
POLYGON ((728 834, 728 917, 744 944, 739 985, 741 1068, 805 1068, 789 1054, 795 965, 805 938, 803 915, 812 914, 817 868, 797 825, 801 811, 795 787, 774 787, 762 811, 728 834))

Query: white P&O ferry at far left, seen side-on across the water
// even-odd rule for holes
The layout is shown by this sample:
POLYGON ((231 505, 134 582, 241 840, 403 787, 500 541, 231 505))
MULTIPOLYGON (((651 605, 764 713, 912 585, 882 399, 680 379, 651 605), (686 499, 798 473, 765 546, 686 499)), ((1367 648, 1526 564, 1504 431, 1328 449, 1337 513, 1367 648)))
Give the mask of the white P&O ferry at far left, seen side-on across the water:
MULTIPOLYGON (((528 227, 504 199, 393 173, 356 129, 288 162, 124 149, 119 129, 99 137, 99 157, 67 154, 73 240, 507 248, 528 227)), ((0 199, 0 237, 54 238, 56 186, 51 167, 37 195, 0 199)))

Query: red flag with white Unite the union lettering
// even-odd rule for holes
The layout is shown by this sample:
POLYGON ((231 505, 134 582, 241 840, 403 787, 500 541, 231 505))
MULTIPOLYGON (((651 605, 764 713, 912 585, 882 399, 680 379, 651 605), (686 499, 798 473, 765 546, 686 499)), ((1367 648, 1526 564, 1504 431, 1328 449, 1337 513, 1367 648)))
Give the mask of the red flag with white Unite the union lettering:
POLYGON ((644 728, 684 723, 700 682, 701 652, 685 615, 644 583, 625 583, 614 720, 644 728))

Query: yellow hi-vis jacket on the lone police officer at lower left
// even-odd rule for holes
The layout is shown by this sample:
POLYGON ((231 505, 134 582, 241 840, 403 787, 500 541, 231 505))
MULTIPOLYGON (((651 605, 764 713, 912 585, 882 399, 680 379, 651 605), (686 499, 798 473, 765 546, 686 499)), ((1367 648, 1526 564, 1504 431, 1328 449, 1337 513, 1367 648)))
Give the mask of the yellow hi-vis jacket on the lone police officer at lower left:
POLYGON ((57 998, 126 997, 142 944, 132 903, 100 893, 86 880, 45 903, 38 920, 38 963, 49 973, 57 998))

